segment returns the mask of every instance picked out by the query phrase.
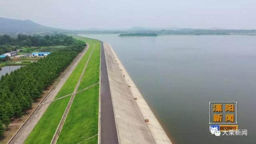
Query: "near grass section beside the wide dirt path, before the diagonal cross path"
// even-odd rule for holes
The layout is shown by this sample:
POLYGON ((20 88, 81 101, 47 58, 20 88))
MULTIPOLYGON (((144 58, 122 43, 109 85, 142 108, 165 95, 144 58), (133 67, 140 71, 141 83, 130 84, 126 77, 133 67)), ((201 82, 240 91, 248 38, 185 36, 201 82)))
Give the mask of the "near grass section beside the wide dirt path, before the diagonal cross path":
POLYGON ((52 102, 24 144, 50 144, 71 96, 52 102))

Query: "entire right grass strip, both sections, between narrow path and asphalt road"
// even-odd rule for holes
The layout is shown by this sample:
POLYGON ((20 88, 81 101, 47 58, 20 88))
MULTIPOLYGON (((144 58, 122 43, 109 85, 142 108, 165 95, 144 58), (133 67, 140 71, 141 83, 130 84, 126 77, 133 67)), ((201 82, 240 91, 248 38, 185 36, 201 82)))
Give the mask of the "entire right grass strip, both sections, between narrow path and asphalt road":
MULTIPOLYGON (((78 37, 83 39, 83 37, 78 37)), ((78 90, 99 82, 100 42, 95 42, 94 51, 78 90)), ((57 144, 96 144, 98 141, 98 96, 99 84, 76 94, 57 144)))

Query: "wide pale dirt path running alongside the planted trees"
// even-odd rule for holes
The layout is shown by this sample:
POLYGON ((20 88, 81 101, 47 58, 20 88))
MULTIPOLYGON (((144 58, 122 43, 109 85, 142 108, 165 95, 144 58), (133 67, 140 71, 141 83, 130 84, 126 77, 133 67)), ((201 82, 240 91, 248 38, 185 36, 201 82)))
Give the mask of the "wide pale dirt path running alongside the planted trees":
POLYGON ((54 97, 57 95, 61 87, 64 85, 72 71, 76 68, 79 61, 82 59, 88 48, 90 47, 87 44, 85 50, 78 54, 78 56, 73 60, 72 64, 70 64, 69 68, 67 68, 66 72, 60 77, 59 81, 56 85, 50 90, 50 92, 45 96, 45 98, 39 103, 37 108, 32 112, 32 114, 28 117, 28 119, 24 122, 24 124, 20 127, 20 129, 14 134, 8 144, 22 144, 36 126, 37 122, 40 120, 48 106, 51 104, 49 101, 52 101, 54 97), (42 104, 44 102, 49 102, 46 104, 42 104))

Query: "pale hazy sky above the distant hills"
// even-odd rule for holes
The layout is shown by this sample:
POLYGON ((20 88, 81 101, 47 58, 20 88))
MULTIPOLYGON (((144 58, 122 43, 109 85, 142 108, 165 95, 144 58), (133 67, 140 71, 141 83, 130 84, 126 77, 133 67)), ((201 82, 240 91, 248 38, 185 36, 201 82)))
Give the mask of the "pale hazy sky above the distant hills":
POLYGON ((0 0, 0 17, 65 29, 256 29, 256 0, 0 0))

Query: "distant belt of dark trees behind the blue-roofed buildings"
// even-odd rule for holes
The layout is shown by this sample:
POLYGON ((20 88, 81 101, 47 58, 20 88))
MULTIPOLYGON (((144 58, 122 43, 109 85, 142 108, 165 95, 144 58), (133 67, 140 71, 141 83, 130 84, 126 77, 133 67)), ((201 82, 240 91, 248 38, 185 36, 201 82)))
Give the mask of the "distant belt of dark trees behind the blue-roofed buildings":
POLYGON ((84 45, 84 42, 63 34, 28 36, 18 34, 17 38, 0 36, 0 54, 20 49, 18 54, 31 52, 54 52, 70 47, 84 45))

